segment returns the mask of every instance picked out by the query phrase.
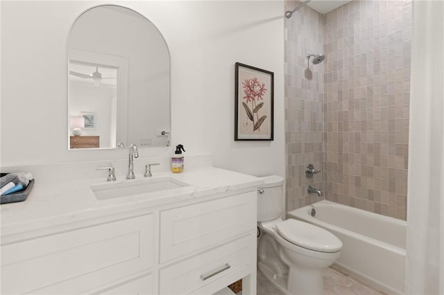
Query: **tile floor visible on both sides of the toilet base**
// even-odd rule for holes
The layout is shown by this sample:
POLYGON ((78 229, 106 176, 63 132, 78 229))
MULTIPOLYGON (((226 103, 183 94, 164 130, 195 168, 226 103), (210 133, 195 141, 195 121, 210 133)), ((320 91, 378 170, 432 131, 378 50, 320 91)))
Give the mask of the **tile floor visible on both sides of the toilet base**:
MULTIPOLYGON (((336 267, 328 267, 324 271, 324 294, 325 295, 386 295, 378 291, 367 283, 345 274, 336 267)), ((280 292, 268 278, 257 270, 257 295, 284 295, 280 292)))

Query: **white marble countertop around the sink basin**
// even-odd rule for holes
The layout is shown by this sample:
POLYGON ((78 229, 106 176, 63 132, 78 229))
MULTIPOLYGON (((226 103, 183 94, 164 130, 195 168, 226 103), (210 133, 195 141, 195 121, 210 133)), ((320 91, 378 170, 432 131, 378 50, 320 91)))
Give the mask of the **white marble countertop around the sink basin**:
MULTIPOLYGON (((230 192, 242 188, 259 186, 263 179, 244 175, 214 167, 187 169, 182 173, 157 172, 149 179, 155 181, 160 177, 171 177, 185 182, 189 186, 162 190, 155 193, 144 193, 113 199, 96 199, 91 186, 110 184, 102 177, 100 179, 59 181, 52 184, 35 185, 26 201, 2 204, 1 235, 14 235, 44 229, 57 224, 67 224, 117 214, 180 202, 198 197, 230 192)), ((147 179, 136 175, 135 180, 147 179)), ((126 183, 123 175, 117 175, 114 183, 126 183)))

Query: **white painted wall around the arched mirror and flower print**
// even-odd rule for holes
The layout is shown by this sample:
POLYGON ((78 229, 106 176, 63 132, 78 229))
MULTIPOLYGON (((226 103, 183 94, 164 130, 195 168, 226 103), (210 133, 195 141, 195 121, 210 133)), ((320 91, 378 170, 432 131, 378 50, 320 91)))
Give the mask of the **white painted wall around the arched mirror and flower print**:
MULTIPOLYGON (((126 150, 67 150, 67 36, 76 17, 99 3, 1 2, 1 166, 126 157, 126 150)), ((153 21, 167 41, 172 144, 210 152, 221 168, 284 175, 284 3, 114 3, 153 21), (275 73, 275 141, 234 142, 235 62, 275 73)))

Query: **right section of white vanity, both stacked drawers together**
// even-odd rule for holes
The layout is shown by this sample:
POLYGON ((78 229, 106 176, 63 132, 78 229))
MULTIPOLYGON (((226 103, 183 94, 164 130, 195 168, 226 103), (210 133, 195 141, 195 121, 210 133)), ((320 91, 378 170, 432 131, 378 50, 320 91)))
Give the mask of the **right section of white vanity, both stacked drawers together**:
POLYGON ((213 294, 255 276, 256 206, 254 190, 160 212, 160 262, 189 258, 162 263, 159 293, 213 294))

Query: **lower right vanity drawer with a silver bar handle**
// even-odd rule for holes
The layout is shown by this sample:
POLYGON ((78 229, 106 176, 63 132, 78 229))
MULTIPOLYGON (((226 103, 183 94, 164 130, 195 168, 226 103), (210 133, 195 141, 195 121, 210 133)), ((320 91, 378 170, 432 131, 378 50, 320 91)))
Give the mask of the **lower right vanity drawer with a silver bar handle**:
POLYGON ((206 290, 204 294, 212 294, 238 278, 246 276, 251 271, 251 267, 255 267, 255 239, 255 235, 250 234, 160 269, 160 294, 199 294, 196 290, 209 284, 214 287, 214 290, 210 293, 206 290), (225 282, 223 278, 227 276, 231 277, 225 282))

